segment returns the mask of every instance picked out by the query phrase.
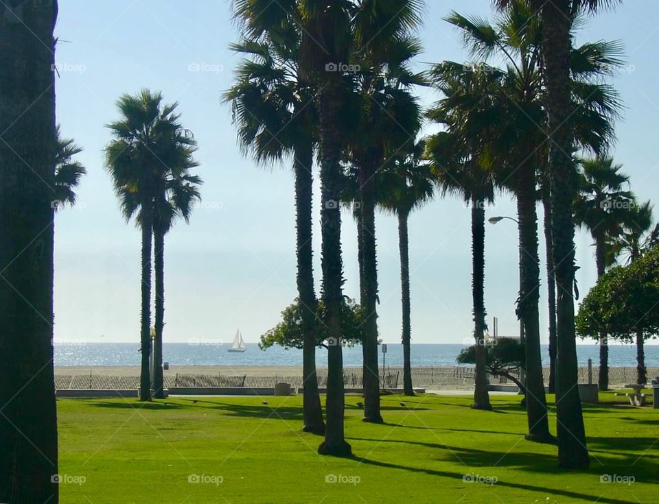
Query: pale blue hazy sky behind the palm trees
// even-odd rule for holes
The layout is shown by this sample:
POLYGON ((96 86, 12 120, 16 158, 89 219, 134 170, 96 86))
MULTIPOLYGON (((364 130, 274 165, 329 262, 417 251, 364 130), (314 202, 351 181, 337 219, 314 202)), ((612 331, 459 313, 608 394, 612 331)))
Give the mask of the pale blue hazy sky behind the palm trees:
MULTIPOLYGON (((430 1, 421 36, 426 52, 419 65, 467 59, 459 34, 442 21, 452 9, 490 16, 488 0, 430 1)), ((656 117, 659 112, 659 3, 627 1, 615 13, 592 19, 581 40, 621 39, 629 72, 615 84, 625 101, 614 155, 632 177, 640 198, 659 189, 656 117)), ((240 327, 257 341, 279 320, 296 296, 292 174, 288 163, 275 169, 244 158, 235 141, 229 106, 220 94, 229 87, 238 58, 227 47, 237 32, 228 1, 60 0, 56 28, 58 121, 67 137, 85 149, 79 159, 89 175, 78 208, 56 219, 55 335, 60 341, 139 339, 139 232, 119 213, 103 169, 104 124, 117 117, 122 93, 149 87, 179 101, 183 123, 199 143, 198 173, 205 180, 205 204, 189 226, 178 224, 165 248, 165 339, 231 339, 240 327), (200 64, 205 71, 190 71, 200 64)), ((424 101, 437 98, 424 92, 424 101)), ((317 187, 316 187, 317 189, 317 187)), ((319 210, 318 192, 314 201, 319 210)), ((514 215, 503 197, 488 216, 514 215)), ((540 218, 542 216, 540 215, 540 218)), ((411 217, 412 334, 417 343, 458 343, 471 336, 470 212, 461 201, 429 204, 411 217)), ((319 221, 316 212, 314 224, 319 221)), ((378 215, 380 332, 400 341, 400 284, 395 218, 378 215)), ((315 228, 319 285, 319 229, 315 228)), ((344 214, 345 293, 358 296, 356 229, 344 214)), ((515 225, 487 228, 486 305, 488 320, 500 319, 500 333, 516 334, 513 301, 518 290, 515 225)), ((592 248, 578 240, 579 287, 593 283, 592 248)), ((544 244, 542 244, 544 246, 544 244)), ((544 249, 541 249, 544 259, 544 249)), ((544 272, 544 260, 542 261, 544 272)), ((543 337, 546 286, 542 283, 543 337)))

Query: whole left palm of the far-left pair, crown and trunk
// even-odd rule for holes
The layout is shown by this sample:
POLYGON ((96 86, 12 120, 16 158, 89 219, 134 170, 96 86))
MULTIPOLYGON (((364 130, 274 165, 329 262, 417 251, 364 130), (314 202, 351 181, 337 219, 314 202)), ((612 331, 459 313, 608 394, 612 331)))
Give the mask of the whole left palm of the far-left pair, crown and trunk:
POLYGON ((126 221, 135 216, 141 230, 141 372, 140 400, 150 400, 151 270, 154 208, 163 194, 163 179, 176 180, 194 166, 194 136, 183 128, 178 104, 164 104, 161 93, 143 89, 122 95, 117 107, 122 118, 110 123, 113 139, 105 149, 106 169, 113 180, 126 221), (191 165, 191 163, 193 163, 191 165))

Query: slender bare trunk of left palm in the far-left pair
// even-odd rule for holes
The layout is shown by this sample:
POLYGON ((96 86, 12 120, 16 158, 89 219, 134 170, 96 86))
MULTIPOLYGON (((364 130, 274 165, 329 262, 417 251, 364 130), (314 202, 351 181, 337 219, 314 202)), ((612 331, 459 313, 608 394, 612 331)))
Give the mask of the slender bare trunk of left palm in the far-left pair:
POLYGON ((151 355, 151 250, 153 220, 150 213, 152 202, 144 197, 142 211, 142 282, 141 282, 141 314, 140 333, 141 344, 141 370, 139 375, 139 400, 151 399, 151 376, 149 372, 149 358, 151 355))

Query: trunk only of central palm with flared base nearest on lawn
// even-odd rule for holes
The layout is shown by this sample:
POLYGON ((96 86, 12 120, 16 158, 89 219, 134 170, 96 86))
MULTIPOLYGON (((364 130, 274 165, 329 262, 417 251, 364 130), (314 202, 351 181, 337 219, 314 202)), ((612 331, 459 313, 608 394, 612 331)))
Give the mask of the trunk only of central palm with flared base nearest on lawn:
POLYGON ((351 446, 345 441, 343 415, 343 260, 341 258, 340 157, 338 114, 341 108, 340 82, 330 79, 319 97, 321 131, 321 221, 323 300, 327 309, 327 427, 321 455, 345 456, 351 446))

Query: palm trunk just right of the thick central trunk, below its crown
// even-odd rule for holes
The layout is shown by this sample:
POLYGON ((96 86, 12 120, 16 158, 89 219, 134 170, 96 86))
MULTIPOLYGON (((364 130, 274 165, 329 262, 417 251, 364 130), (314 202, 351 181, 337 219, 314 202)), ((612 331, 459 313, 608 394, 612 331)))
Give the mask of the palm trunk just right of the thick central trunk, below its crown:
POLYGON ((364 420, 382 423, 380 414, 380 378, 378 376, 378 263, 375 250, 375 195, 373 194, 374 167, 362 166, 359 170, 361 247, 360 291, 361 304, 366 309, 365 337, 362 342, 364 363, 364 420))

